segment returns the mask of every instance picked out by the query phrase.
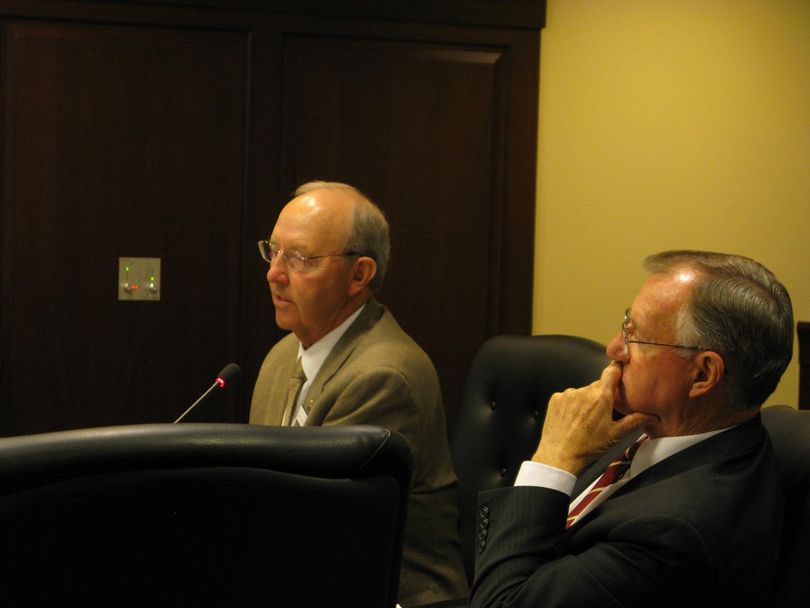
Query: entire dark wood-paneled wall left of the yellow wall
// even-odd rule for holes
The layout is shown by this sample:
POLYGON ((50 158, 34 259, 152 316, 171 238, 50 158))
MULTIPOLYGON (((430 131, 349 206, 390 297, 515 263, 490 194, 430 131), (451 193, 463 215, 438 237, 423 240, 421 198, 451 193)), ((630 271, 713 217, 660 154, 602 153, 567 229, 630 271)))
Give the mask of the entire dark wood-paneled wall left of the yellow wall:
POLYGON ((246 421, 275 326, 256 241, 291 191, 385 209, 381 294, 452 423, 496 333, 528 333, 544 3, 0 0, 0 434, 246 421), (504 21, 504 19, 506 21, 504 21), (491 24, 491 25, 484 25, 491 24), (160 257, 159 303, 117 259, 160 257))

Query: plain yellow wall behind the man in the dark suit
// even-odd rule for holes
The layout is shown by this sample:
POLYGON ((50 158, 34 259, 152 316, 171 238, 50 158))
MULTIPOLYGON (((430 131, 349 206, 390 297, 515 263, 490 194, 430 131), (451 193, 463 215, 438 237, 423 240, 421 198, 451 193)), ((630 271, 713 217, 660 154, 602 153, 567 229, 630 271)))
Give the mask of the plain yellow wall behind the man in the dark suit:
POLYGON ((810 2, 549 0, 541 36, 534 333, 607 342, 671 248, 763 262, 810 320, 810 2))

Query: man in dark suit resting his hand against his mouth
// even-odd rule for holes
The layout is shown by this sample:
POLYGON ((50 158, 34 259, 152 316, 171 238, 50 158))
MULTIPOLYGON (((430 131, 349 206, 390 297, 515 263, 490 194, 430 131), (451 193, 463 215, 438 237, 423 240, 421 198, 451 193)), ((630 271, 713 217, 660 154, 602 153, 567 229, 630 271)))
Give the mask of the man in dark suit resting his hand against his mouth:
POLYGON ((613 362, 551 398, 515 487, 479 497, 471 606, 765 605, 782 505, 759 409, 792 356, 790 298, 741 256, 646 266, 613 362))

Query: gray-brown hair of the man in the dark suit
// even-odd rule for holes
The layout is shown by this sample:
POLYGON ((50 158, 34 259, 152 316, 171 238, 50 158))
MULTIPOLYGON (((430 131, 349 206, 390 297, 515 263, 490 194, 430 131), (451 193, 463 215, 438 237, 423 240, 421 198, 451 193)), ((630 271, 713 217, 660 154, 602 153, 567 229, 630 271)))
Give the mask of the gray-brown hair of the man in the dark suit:
POLYGON ((793 307, 784 285, 759 262, 727 253, 664 251, 644 266, 654 274, 697 271, 678 315, 678 343, 723 357, 733 407, 762 405, 793 356, 793 307))

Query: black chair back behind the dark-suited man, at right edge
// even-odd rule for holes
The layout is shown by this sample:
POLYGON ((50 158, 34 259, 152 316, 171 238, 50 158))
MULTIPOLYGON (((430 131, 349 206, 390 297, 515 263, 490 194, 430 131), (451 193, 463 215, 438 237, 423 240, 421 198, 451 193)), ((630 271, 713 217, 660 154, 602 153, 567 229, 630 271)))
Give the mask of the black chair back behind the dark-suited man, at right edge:
POLYGON ((762 423, 771 436, 785 490, 782 547, 771 606, 810 606, 810 411, 787 405, 765 407, 762 423))

